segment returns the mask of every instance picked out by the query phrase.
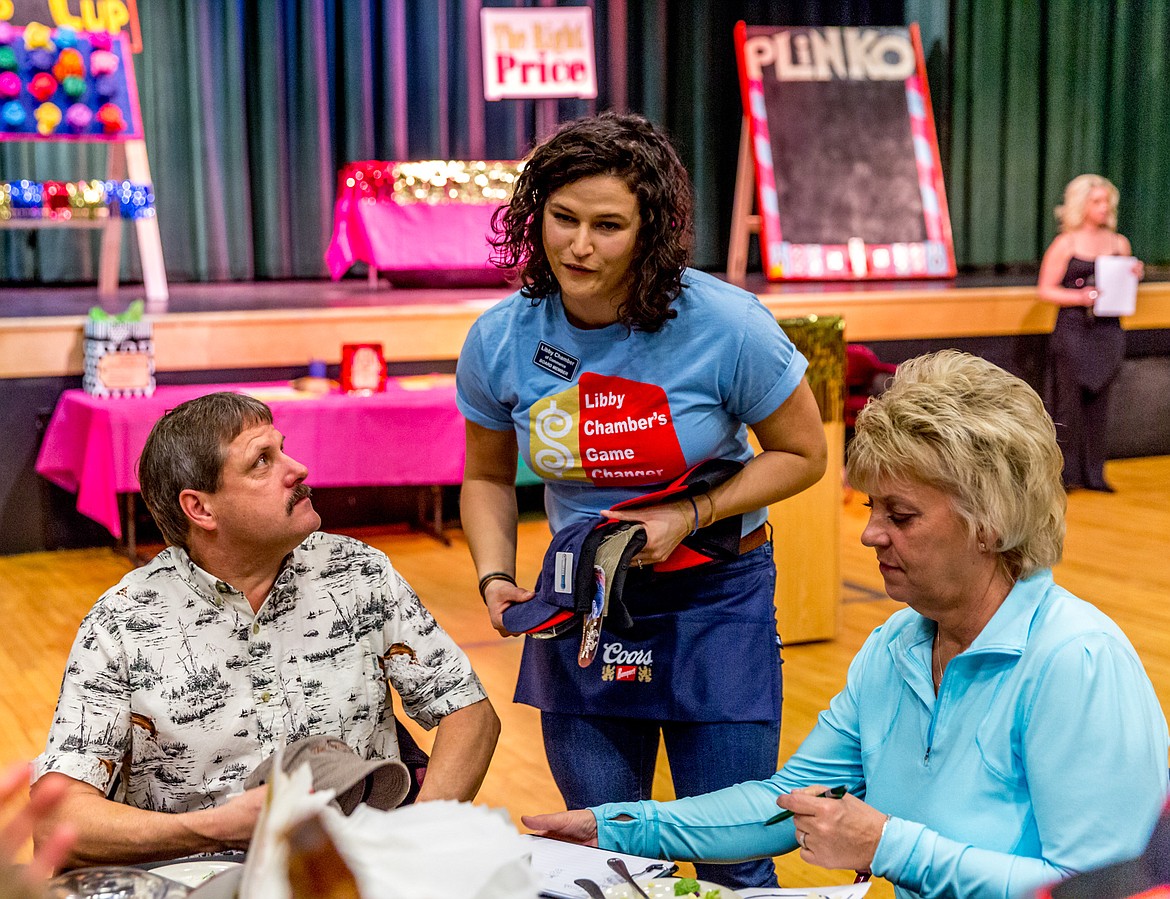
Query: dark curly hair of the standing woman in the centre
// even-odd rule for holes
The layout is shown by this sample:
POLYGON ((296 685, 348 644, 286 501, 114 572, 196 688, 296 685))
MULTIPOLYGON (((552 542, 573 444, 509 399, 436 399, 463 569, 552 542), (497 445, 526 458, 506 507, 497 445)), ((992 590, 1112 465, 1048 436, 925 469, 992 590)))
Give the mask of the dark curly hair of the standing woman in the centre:
POLYGON ((603 112, 569 122, 532 151, 511 203, 491 218, 491 262, 516 272, 521 293, 538 304, 560 286, 544 253, 544 205, 566 184, 599 174, 620 178, 638 198, 641 227, 629 295, 618 309, 627 328, 656 331, 677 314, 670 304, 694 238, 690 178, 670 139, 636 115, 603 112))

